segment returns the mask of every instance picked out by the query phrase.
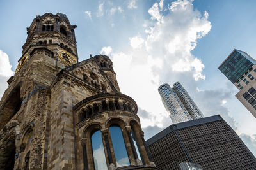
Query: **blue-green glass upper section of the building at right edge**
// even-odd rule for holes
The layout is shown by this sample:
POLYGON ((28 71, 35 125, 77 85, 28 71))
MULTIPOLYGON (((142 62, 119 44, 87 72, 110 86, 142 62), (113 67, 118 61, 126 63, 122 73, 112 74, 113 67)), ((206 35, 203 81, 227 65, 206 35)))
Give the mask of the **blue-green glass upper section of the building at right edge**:
POLYGON ((218 69, 228 80, 235 83, 256 61, 246 52, 234 50, 218 69))

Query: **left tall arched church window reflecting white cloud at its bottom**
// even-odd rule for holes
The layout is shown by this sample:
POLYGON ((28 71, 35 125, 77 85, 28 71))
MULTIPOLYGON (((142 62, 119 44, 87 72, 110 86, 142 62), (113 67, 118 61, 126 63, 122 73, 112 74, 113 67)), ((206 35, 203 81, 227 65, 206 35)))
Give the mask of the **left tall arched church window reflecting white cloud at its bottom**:
POLYGON ((108 170, 100 130, 93 132, 91 142, 95 170, 108 170))

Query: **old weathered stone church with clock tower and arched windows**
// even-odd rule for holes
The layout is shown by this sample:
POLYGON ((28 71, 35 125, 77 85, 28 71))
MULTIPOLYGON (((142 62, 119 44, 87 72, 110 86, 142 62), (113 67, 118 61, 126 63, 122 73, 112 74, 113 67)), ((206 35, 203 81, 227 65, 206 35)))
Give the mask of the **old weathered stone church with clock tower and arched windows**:
POLYGON ((112 62, 78 62, 65 14, 36 16, 0 101, 0 169, 156 169, 112 62))

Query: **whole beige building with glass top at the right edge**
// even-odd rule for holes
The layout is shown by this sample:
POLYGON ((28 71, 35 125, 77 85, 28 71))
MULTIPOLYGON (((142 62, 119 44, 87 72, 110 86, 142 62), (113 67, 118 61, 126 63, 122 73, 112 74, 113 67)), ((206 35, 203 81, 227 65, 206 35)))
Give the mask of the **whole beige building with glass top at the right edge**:
POLYGON ((256 60, 235 49, 218 69, 239 89, 237 99, 256 117, 256 60))

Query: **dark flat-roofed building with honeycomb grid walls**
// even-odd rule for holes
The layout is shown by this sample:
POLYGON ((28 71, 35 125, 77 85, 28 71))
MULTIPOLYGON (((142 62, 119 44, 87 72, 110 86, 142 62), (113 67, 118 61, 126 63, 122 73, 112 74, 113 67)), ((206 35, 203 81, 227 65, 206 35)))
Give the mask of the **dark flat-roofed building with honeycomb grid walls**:
POLYGON ((202 169, 256 169, 256 159, 236 132, 215 115, 170 125, 146 141, 159 169, 191 162, 202 169))

